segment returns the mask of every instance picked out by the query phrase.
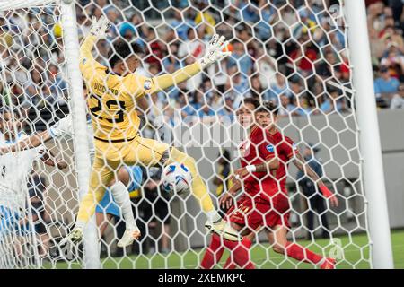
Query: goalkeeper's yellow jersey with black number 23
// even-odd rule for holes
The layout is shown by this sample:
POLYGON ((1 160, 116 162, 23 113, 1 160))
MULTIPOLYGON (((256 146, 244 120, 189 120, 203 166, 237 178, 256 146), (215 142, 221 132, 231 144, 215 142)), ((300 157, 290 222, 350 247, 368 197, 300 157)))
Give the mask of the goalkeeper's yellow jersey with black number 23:
POLYGON ((109 143, 130 141, 136 137, 140 125, 136 99, 154 90, 154 79, 109 73, 106 66, 92 57, 94 42, 93 36, 84 40, 80 58, 80 70, 89 89, 87 101, 94 138, 109 143))

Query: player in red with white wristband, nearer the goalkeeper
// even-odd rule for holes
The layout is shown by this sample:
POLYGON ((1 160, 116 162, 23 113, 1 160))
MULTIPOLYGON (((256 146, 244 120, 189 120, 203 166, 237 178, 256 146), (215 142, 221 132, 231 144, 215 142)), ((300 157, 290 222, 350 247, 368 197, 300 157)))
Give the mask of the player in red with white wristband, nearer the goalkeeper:
POLYGON ((242 180, 234 180, 235 184, 229 190, 231 194, 242 187, 245 191, 237 204, 226 213, 226 221, 240 232, 242 241, 229 241, 213 234, 201 263, 202 268, 213 268, 222 257, 224 248, 231 251, 236 265, 245 269, 254 268, 249 255, 251 241, 246 236, 262 224, 275 223, 270 223, 270 218, 266 218, 265 214, 271 210, 271 192, 277 190, 275 175, 268 171, 277 170, 279 162, 275 156, 275 146, 268 141, 266 130, 253 124, 254 110, 258 107, 257 100, 248 98, 243 100, 237 110, 240 124, 249 131, 248 138, 240 146, 242 168, 250 170, 251 167, 259 166, 259 170, 250 170, 242 180))

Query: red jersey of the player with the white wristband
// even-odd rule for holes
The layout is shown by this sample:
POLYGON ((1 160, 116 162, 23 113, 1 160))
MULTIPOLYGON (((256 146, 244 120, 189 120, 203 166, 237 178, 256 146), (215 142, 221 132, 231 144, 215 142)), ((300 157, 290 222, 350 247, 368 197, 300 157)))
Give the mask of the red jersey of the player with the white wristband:
MULTIPOLYGON (((250 138, 240 146, 242 168, 251 164, 259 165, 276 156, 275 145, 270 139, 271 136, 258 126, 252 128, 250 138)), ((243 179, 243 185, 245 192, 250 196, 257 194, 259 197, 265 194, 271 196, 277 189, 275 177, 268 172, 252 172, 250 176, 243 179)), ((263 199, 268 200, 268 197, 264 196, 263 199)))

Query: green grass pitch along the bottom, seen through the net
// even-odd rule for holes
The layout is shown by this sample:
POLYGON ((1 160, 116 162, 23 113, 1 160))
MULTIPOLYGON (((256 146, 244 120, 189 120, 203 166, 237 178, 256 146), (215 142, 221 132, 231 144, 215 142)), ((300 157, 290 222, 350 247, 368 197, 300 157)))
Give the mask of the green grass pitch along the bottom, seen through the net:
MULTIPOLYGON (((352 237, 339 237, 340 247, 343 250, 343 256, 338 260, 338 269, 350 268, 370 268, 369 245, 365 234, 353 235, 352 237)), ((299 241, 303 246, 311 248, 312 251, 321 252, 324 249, 325 254, 336 251, 334 246, 329 245, 329 240, 318 239, 315 243, 311 241, 299 241)), ((393 230, 391 232, 391 243, 394 255, 395 268, 404 268, 404 230, 393 230)), ((103 268, 109 269, 149 269, 149 268, 198 268, 204 249, 193 249, 184 253, 171 253, 171 255, 162 256, 154 254, 152 256, 130 256, 114 257, 102 259, 103 268)), ((336 254, 336 253, 334 253, 336 254)), ((340 253, 341 254, 341 253, 340 253)), ((228 253, 224 253, 219 265, 224 265, 228 253)), ((257 268, 314 268, 313 265, 300 263, 293 259, 286 259, 268 248, 268 244, 255 245, 251 249, 251 257, 257 268)), ((47 267, 47 266, 45 266, 47 267)), ((48 267, 50 267, 48 265, 48 267)), ((55 267, 55 266, 54 266, 55 267)), ((78 263, 57 263, 56 268, 81 268, 78 263)))

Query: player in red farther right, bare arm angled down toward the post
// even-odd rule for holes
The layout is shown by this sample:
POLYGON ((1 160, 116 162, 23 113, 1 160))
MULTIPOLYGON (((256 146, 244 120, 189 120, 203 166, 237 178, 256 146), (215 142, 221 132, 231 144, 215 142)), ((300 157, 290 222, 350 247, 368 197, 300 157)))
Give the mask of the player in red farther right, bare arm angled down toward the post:
MULTIPOLYGON (((267 224, 267 227, 269 227, 269 243, 277 253, 285 254, 301 262, 318 265, 321 269, 334 269, 336 264, 335 259, 317 255, 308 248, 303 248, 294 242, 288 241, 286 238, 290 228, 288 222, 290 206, 285 189, 286 170, 289 162, 293 161, 299 170, 303 170, 305 174, 318 183, 323 196, 329 198, 331 205, 338 205, 337 197, 332 194, 321 181, 321 178, 305 163, 294 142, 277 130, 277 107, 275 105, 269 103, 265 108, 259 109, 256 113, 256 121, 259 126, 263 126, 267 130, 268 139, 276 146, 277 158, 279 160, 279 166, 276 170, 277 190, 271 202, 273 210, 267 216, 270 223, 267 224)), ((259 169, 260 167, 257 166, 256 170, 259 169)), ((249 173, 249 170, 245 168, 235 171, 235 174, 239 178, 245 178, 249 173)), ((225 204, 227 202, 228 196, 224 196, 222 203, 225 204)), ((230 260, 226 263, 226 266, 228 268, 235 267, 234 264, 230 263, 230 260)))

